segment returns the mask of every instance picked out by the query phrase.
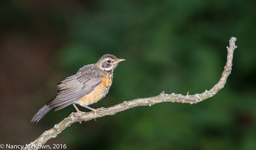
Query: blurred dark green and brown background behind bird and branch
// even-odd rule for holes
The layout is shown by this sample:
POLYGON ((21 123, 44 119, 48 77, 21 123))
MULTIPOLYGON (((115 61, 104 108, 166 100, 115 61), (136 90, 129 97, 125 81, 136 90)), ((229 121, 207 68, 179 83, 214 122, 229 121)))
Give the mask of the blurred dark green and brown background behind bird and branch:
POLYGON ((115 69, 109 94, 93 108, 162 91, 209 90, 221 77, 233 36, 238 48, 232 72, 212 98, 77 122, 46 145, 256 149, 255 6, 256 1, 237 0, 1 1, 0 144, 28 144, 75 112, 70 105, 29 122, 55 95, 59 81, 107 53, 126 61, 115 69))

